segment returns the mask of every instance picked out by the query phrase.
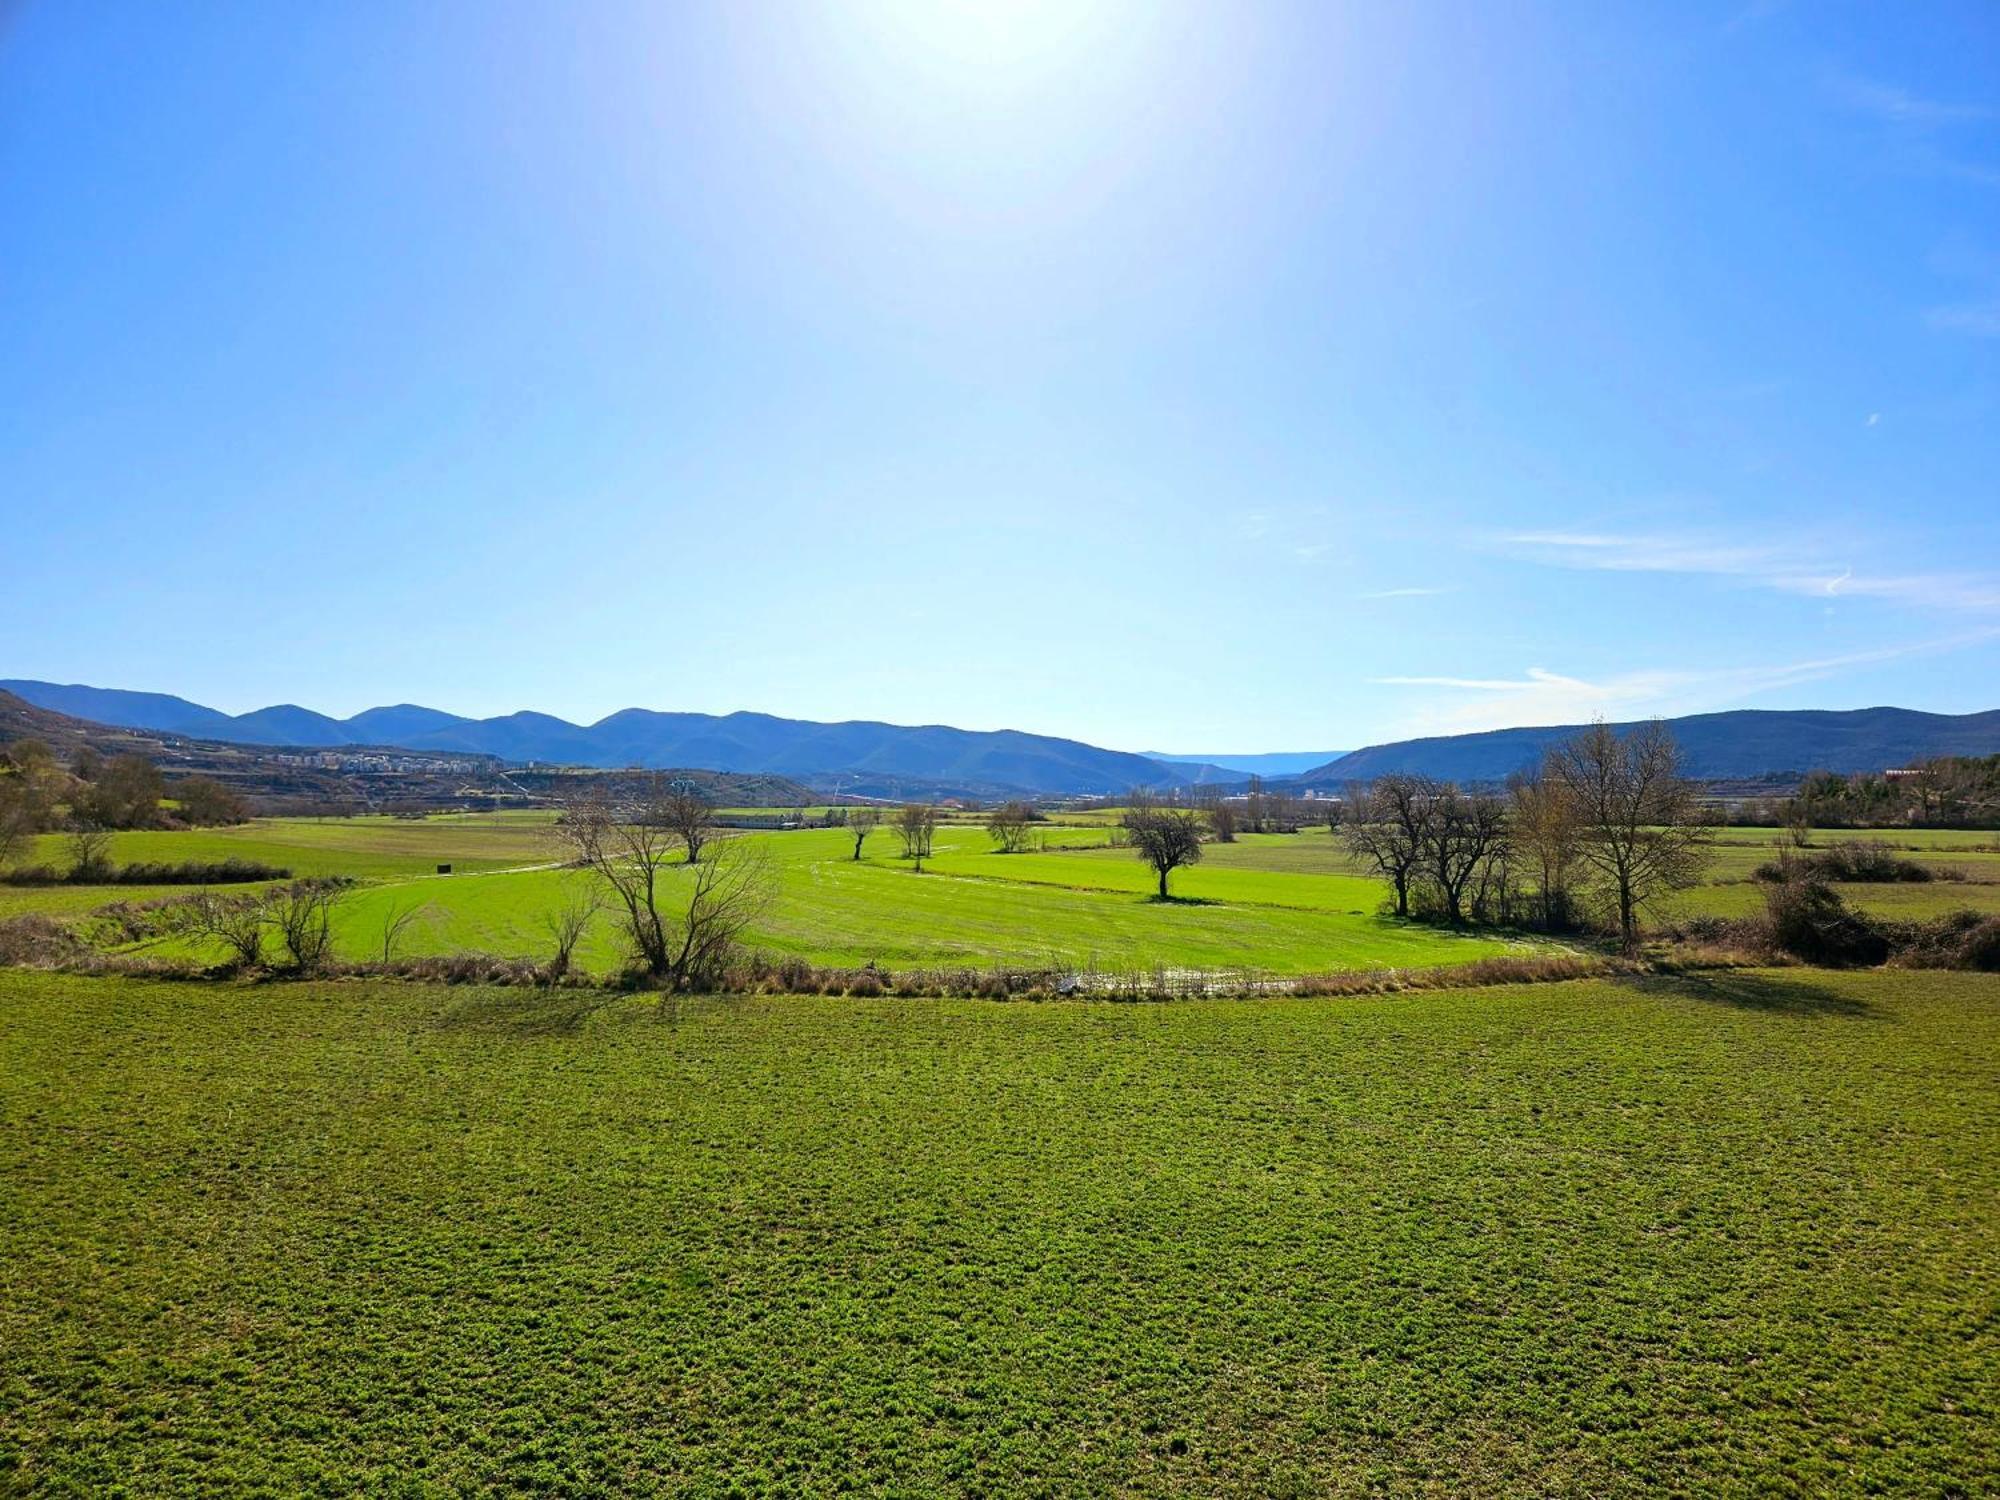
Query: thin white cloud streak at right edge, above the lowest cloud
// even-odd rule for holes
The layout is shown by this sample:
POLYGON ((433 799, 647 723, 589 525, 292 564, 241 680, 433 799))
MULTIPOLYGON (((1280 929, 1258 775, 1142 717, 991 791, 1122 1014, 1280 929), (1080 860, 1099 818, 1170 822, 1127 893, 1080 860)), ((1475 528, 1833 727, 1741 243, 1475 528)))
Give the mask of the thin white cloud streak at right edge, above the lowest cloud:
POLYGON ((1770 546, 1706 538, 1520 532, 1502 540, 1512 556, 1556 568, 1668 572, 1738 578, 1758 588, 1826 598, 1878 598, 1936 610, 2000 614, 2000 578, 1970 572, 1858 572, 1848 562, 1806 558, 1770 546))

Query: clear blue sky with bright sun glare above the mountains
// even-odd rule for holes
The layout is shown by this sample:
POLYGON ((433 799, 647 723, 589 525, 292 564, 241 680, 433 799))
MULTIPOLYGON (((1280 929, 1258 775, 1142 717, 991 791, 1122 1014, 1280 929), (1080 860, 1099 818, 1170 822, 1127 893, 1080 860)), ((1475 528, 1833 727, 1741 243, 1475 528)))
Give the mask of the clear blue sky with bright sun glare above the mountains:
POLYGON ((0 676, 2000 706, 2000 8, 0 6, 0 676))

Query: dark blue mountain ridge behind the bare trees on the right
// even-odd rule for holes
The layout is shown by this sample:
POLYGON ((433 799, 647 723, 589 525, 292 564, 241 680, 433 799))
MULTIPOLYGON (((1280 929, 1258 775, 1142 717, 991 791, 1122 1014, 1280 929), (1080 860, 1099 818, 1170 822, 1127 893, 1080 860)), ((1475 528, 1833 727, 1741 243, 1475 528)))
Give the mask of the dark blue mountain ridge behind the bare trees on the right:
MULTIPOLYGON (((1390 774, 1498 782, 1532 770, 1550 744, 1586 726, 1550 724, 1374 744, 1316 766, 1290 784, 1330 788, 1390 774)), ((1702 780, 1808 770, 1880 772, 1926 756, 2000 754, 2000 710, 1924 714, 1916 708, 1734 708, 1672 718, 1668 728, 1680 742, 1688 774, 1702 780)))

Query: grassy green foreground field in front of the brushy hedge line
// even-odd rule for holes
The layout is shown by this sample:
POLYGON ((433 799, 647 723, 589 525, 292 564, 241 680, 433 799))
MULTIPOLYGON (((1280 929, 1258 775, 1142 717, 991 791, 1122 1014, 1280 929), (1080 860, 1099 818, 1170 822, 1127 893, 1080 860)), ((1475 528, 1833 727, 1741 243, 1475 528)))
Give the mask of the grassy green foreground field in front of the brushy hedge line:
POLYGON ((0 1488, 2000 1488, 2000 980, 0 972, 0 1488))

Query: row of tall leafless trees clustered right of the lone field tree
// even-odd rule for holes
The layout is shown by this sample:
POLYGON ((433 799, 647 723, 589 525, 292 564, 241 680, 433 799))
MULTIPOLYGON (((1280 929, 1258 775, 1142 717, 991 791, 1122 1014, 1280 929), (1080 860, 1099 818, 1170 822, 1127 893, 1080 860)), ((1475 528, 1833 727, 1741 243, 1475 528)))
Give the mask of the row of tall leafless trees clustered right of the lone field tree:
POLYGON ((1650 904, 1700 880, 1710 842, 1658 722, 1624 736, 1594 724, 1504 796, 1382 776, 1342 808, 1342 840, 1390 882, 1398 916, 1560 930, 1596 906, 1626 950, 1650 904))

